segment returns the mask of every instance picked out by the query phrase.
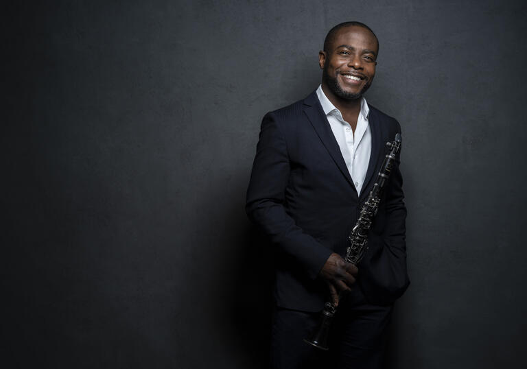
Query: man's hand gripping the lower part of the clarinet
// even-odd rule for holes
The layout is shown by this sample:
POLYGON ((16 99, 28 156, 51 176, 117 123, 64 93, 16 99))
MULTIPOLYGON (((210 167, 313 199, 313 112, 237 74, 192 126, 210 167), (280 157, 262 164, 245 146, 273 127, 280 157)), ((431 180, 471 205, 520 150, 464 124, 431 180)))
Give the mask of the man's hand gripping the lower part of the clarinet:
POLYGON ((346 263, 339 254, 333 252, 333 254, 329 255, 318 275, 326 281, 334 307, 338 306, 338 295, 340 292, 351 291, 350 286, 355 283, 358 271, 355 265, 346 263))

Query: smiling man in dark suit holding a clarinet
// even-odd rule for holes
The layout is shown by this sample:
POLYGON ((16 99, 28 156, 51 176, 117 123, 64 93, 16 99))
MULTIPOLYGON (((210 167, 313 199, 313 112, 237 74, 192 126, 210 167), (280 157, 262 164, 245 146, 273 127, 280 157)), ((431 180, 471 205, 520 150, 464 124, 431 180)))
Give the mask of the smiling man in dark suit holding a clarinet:
POLYGON ((358 265, 340 257, 399 123, 362 96, 379 43, 366 25, 336 25, 319 52, 322 84, 261 123, 246 211, 277 246, 274 368, 379 368, 393 302, 408 287, 406 207, 393 170, 358 265), (346 294, 340 295, 346 291, 346 294), (344 296, 341 299, 339 296, 344 296), (329 351, 303 342, 326 300, 338 305, 329 351))

